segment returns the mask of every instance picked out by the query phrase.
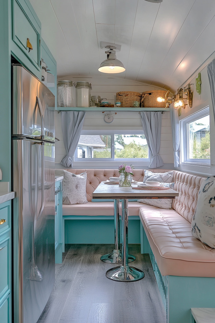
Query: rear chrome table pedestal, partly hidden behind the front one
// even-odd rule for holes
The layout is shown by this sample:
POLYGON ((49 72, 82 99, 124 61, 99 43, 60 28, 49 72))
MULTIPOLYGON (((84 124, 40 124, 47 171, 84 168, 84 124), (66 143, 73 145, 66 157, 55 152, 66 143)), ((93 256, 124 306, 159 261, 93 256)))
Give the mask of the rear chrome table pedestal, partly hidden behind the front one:
MULTIPOLYGON (((115 249, 112 253, 101 256, 101 260, 110 264, 121 264, 122 253, 120 250, 120 200, 114 199, 114 229, 115 229, 115 249)), ((133 255, 128 255, 128 262, 134 261, 133 255)))

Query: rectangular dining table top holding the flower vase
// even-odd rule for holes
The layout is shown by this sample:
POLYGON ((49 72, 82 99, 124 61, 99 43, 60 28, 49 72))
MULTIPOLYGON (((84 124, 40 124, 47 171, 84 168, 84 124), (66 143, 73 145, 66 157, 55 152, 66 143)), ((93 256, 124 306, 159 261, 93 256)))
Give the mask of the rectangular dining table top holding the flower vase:
MULTIPOLYGON (((138 182, 137 184, 142 184, 138 182)), ((179 196, 179 193, 172 190, 133 190, 132 187, 137 187, 137 184, 132 184, 128 187, 120 187, 119 185, 107 185, 101 182, 92 194, 94 199, 140 199, 140 198, 174 198, 179 196)))

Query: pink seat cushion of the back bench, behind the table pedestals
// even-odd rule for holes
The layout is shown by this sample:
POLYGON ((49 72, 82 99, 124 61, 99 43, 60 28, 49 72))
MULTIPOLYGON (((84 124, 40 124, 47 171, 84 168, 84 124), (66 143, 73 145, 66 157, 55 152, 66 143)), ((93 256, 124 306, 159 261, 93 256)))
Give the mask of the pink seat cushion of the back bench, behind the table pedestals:
MULTIPOLYGON (((139 216, 140 203, 129 202, 129 216, 139 216)), ((86 204, 63 204, 63 215, 113 215, 113 202, 88 202, 86 204)), ((122 206, 120 203, 120 214, 122 206)))

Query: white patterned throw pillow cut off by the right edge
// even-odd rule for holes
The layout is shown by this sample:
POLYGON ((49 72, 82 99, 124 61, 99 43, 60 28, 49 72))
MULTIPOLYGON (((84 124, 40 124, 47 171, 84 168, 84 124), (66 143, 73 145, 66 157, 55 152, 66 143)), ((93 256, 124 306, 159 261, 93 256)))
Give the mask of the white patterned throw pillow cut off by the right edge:
POLYGON ((208 177, 200 186, 191 226, 194 237, 215 248, 215 176, 208 177))

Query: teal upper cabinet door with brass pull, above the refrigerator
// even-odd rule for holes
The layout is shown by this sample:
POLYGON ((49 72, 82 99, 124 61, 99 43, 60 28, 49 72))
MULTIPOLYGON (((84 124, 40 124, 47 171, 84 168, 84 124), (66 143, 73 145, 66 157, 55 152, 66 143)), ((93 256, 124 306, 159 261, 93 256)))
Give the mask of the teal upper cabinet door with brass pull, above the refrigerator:
POLYGON ((31 63, 40 70, 40 21, 29 9, 24 0, 13 0, 13 41, 28 57, 31 63), (30 45, 27 44, 29 39, 30 45), (32 49, 29 51, 29 47, 32 49))

